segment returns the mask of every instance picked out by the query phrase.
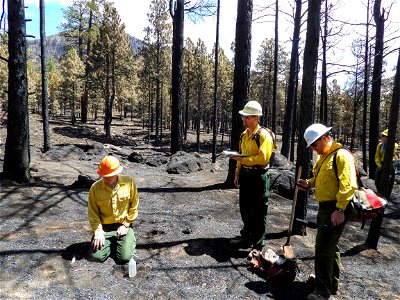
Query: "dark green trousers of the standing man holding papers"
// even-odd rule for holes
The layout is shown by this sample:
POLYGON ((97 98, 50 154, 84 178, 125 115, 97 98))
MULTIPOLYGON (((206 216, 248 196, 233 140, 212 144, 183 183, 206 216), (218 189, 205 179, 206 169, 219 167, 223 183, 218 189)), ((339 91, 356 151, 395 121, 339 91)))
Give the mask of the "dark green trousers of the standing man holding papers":
POLYGON ((240 170, 239 206, 243 221, 242 238, 255 248, 265 245, 269 175, 266 170, 240 170))

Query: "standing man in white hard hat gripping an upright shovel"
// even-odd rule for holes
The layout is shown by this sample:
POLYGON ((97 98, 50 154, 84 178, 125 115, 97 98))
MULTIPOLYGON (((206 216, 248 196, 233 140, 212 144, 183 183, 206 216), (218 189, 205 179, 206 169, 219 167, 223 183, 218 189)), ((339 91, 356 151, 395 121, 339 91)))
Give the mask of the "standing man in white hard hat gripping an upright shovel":
POLYGON ((313 177, 299 180, 300 189, 315 188, 318 232, 315 245, 315 291, 309 300, 329 299, 339 288, 340 251, 337 246, 345 226, 344 211, 357 189, 354 158, 332 140, 331 127, 313 124, 304 132, 307 147, 319 155, 313 177), (335 161, 334 161, 335 160, 335 161), (334 165, 336 164, 337 173, 334 165))

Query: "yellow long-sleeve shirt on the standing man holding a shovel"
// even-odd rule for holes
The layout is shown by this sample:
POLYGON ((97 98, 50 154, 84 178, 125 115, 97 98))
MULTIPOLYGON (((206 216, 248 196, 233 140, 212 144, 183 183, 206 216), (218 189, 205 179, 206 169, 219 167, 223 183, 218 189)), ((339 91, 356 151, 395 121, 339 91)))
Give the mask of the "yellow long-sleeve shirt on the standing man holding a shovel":
POLYGON ((315 188, 316 201, 336 200, 336 207, 345 209, 358 185, 354 157, 346 149, 338 150, 336 155, 338 185, 338 178, 333 168, 335 155, 332 152, 341 147, 341 144, 333 143, 327 154, 318 157, 313 168, 314 177, 309 179, 308 183, 310 187, 315 188))

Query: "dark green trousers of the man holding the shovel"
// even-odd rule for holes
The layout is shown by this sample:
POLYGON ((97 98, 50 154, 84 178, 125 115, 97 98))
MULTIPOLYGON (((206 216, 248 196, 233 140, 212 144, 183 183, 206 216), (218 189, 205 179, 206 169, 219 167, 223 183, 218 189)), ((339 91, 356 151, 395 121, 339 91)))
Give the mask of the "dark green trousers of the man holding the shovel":
POLYGON ((336 201, 320 202, 317 214, 315 289, 327 298, 334 294, 339 287, 340 251, 337 245, 346 223, 333 226, 331 215, 335 210, 336 201))

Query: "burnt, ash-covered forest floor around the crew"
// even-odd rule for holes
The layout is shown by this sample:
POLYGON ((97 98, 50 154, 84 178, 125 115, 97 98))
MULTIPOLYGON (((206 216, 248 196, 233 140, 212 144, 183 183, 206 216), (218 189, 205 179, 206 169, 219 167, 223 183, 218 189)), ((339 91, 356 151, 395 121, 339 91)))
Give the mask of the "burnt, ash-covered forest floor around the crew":
MULTIPOLYGON (((114 145, 147 156, 160 153, 145 143, 139 129, 116 125, 120 126, 113 127, 114 145)), ((53 144, 104 143, 101 127, 52 123, 53 144)), ((31 118, 31 138, 35 181, 29 185, 0 181, 0 299, 303 299, 312 291, 307 279, 313 273, 314 229, 291 239, 300 272, 290 285, 253 272, 247 251, 229 246, 241 221, 238 191, 222 185, 227 173, 222 157, 216 164, 205 164, 202 171, 176 175, 165 167, 131 163, 119 156, 140 193, 134 224, 138 273, 127 277, 112 259, 88 262, 84 258, 91 235, 88 190, 71 185, 78 175, 95 178, 95 167, 110 148, 43 156, 36 118, 31 118)), ((5 128, 0 139, 2 169, 5 128)), ((334 299, 400 299, 398 192, 396 184, 378 251, 360 246, 368 226, 360 230, 360 224, 347 225, 340 242, 342 284, 334 299)), ((286 241, 290 208, 291 200, 272 195, 268 247, 278 253, 286 241)), ((310 220, 315 211, 310 201, 310 220)))

